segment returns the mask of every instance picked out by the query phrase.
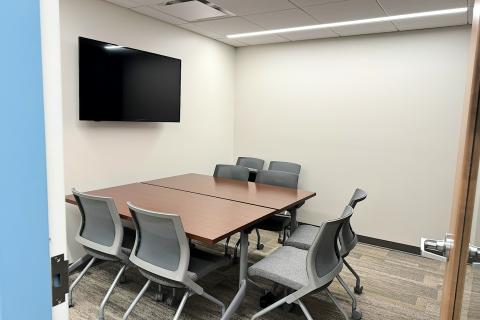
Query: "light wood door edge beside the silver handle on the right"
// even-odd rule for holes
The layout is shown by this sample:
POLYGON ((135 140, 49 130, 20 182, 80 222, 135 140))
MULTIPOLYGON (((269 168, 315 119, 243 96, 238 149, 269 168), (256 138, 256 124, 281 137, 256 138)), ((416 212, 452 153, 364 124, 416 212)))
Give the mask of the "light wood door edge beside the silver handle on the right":
POLYGON ((469 244, 480 161, 480 0, 475 0, 467 85, 460 131, 460 149, 449 233, 453 246, 445 268, 440 305, 441 320, 458 320, 462 313, 469 244))

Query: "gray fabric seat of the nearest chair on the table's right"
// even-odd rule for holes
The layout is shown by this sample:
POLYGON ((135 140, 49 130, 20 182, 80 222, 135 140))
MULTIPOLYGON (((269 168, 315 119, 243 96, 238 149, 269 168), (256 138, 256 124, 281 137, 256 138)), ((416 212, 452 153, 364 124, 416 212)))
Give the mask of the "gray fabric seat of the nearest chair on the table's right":
POLYGON ((280 247, 248 268, 248 274, 298 290, 308 284, 307 253, 294 247, 280 247))

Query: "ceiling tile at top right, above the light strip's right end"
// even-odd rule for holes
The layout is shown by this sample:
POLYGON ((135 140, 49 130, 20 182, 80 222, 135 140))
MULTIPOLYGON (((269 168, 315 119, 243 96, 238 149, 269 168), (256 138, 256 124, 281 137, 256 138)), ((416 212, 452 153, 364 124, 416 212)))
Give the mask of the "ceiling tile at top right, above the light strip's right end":
POLYGON ((461 8, 467 0, 378 0, 388 15, 461 8))

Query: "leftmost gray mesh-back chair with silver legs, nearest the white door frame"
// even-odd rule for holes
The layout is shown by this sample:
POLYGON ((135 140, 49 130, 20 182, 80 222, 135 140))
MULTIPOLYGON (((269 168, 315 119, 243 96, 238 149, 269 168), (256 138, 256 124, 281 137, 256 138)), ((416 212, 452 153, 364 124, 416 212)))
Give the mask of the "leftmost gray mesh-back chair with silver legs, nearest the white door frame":
POLYGON ((122 267, 102 300, 98 319, 104 319, 105 305, 113 289, 129 265, 129 249, 122 247, 123 225, 112 198, 88 195, 72 189, 81 214, 81 224, 75 240, 92 256, 87 266, 70 285, 69 306, 73 306, 73 289, 93 263, 99 260, 118 261, 122 267))

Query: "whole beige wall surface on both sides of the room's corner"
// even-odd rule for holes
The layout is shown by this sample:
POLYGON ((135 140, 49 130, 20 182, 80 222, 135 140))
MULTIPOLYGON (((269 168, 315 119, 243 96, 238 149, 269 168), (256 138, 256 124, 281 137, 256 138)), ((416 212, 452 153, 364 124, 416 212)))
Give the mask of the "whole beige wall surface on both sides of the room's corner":
MULTIPOLYGON (((303 165, 301 187, 318 195, 300 220, 336 217, 359 186, 369 192, 354 217, 360 234, 411 245, 442 238, 468 28, 235 50, 104 1, 62 0, 60 9, 67 191, 210 173, 252 155, 303 165), (79 121, 78 36, 182 59, 182 121, 79 121)), ((71 260, 81 254, 78 219, 68 205, 71 260)))

